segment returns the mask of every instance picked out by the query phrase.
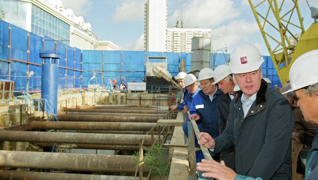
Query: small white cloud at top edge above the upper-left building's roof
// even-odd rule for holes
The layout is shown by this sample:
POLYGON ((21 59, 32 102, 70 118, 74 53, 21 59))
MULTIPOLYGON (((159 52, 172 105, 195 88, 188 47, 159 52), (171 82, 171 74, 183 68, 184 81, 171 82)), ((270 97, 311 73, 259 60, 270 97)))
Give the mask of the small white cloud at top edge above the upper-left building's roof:
POLYGON ((84 16, 91 9, 91 0, 62 0, 64 8, 71 8, 76 16, 84 16))

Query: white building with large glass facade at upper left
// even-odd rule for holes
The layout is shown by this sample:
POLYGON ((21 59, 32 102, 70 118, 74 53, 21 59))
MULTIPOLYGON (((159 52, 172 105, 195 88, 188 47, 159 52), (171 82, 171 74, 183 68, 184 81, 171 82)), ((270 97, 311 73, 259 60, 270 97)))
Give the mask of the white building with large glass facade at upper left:
POLYGON ((98 45, 91 23, 65 9, 61 0, 0 0, 0 20, 80 49, 98 45))

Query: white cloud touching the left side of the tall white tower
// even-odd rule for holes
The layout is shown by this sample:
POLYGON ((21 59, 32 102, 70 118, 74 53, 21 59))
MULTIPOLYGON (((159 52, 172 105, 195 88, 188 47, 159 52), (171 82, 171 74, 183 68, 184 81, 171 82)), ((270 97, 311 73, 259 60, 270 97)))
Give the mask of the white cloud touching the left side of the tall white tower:
POLYGON ((115 22, 142 21, 144 15, 144 0, 125 0, 116 7, 113 14, 115 22))

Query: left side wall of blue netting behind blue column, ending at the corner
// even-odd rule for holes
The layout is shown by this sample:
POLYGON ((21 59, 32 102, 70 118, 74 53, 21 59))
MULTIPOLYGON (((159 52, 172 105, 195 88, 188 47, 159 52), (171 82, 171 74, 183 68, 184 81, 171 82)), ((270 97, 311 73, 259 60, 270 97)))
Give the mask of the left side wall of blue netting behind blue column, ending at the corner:
POLYGON ((39 57, 39 53, 42 52, 62 55, 58 70, 59 88, 70 89, 81 86, 81 49, 68 46, 46 36, 40 37, 0 21, 0 79, 10 77, 10 80, 15 81, 15 91, 26 90, 27 67, 29 67, 29 71, 34 72, 29 78, 29 90, 41 90, 42 58, 39 57), (57 46, 56 49, 55 46, 57 46))

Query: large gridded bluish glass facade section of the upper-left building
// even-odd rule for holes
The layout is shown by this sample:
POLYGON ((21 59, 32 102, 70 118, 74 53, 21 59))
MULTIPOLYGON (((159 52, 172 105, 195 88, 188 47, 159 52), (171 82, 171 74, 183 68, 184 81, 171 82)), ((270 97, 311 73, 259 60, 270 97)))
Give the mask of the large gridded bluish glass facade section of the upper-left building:
POLYGON ((31 23, 31 32, 55 40, 63 40, 64 44, 69 45, 70 26, 33 4, 31 23))

